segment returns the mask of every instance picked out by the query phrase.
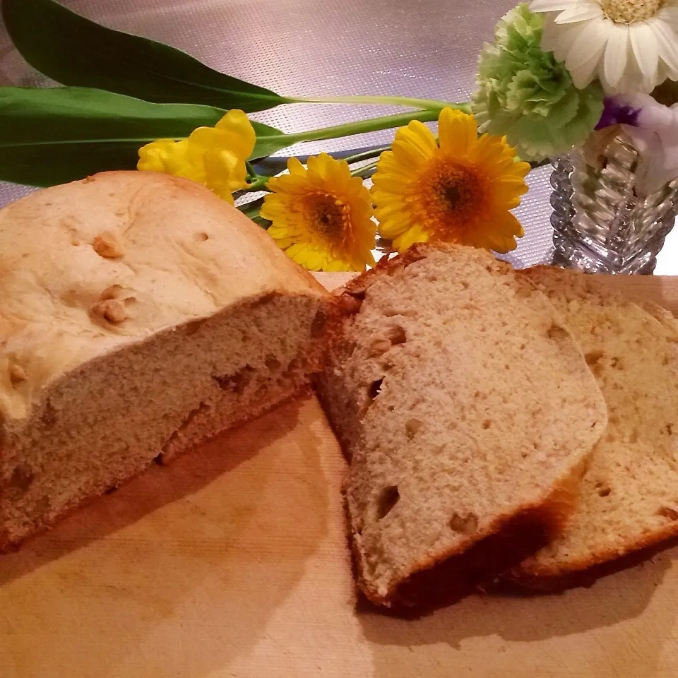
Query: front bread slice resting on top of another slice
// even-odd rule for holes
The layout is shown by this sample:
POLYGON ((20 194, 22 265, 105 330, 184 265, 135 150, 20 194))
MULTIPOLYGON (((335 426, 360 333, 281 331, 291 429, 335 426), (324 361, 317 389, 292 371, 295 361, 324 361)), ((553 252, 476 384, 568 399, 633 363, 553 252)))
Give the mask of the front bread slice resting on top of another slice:
POLYGON ((365 595, 410 602, 415 573, 521 519, 557 532, 607 416, 547 298, 487 252, 422 244, 341 302, 319 394, 350 458, 365 595))

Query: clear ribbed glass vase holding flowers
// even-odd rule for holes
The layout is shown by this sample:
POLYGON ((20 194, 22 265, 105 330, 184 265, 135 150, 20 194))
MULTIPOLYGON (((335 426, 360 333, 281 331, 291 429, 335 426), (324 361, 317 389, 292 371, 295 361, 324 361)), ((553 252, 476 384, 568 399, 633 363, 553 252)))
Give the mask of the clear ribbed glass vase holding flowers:
POLYGON ((552 263, 597 273, 652 273, 678 213, 678 180, 638 197, 638 151, 609 133, 554 160, 552 263))

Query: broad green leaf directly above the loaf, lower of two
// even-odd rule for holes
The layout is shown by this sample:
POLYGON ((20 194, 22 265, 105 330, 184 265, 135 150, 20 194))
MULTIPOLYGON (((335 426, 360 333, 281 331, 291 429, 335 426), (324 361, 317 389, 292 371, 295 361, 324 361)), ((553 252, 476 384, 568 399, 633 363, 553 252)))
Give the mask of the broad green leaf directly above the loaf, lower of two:
MULTIPOLYGON (((0 88, 0 180, 52 186, 107 169, 134 169, 145 143, 185 138, 224 113, 90 88, 0 88)), ((282 134, 252 124, 262 136, 282 134)))

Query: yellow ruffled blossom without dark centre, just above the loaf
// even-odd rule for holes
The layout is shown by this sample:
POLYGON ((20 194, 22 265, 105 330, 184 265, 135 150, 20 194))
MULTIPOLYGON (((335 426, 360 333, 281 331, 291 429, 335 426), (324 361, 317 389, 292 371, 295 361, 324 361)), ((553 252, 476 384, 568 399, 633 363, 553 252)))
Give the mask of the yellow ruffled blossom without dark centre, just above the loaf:
POLYGON ((193 179, 233 204, 234 191, 245 189, 245 161, 256 134, 246 114, 227 112, 214 127, 198 127, 182 141, 158 139, 139 149, 137 169, 193 179))

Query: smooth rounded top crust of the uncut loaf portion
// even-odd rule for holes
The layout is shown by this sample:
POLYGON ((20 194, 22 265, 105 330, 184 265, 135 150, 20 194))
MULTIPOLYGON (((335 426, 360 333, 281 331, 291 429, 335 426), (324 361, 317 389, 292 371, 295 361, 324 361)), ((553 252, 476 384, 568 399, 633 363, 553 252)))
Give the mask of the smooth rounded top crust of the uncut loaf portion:
POLYGON ((194 182, 104 172, 30 194, 0 210, 0 417, 90 359, 271 293, 326 294, 194 182))

